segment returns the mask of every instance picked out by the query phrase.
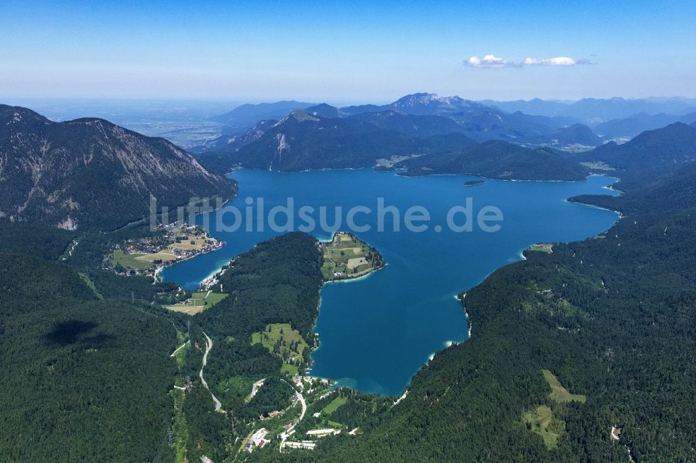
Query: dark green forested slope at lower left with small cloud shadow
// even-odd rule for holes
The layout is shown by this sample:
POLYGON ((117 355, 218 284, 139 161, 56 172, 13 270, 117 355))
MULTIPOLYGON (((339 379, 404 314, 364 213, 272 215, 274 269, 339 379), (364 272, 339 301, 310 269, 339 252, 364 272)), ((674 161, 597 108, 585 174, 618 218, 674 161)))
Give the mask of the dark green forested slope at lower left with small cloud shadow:
POLYGON ((160 287, 58 264, 73 237, 0 227, 0 460, 166 461, 176 330, 140 298, 160 287))

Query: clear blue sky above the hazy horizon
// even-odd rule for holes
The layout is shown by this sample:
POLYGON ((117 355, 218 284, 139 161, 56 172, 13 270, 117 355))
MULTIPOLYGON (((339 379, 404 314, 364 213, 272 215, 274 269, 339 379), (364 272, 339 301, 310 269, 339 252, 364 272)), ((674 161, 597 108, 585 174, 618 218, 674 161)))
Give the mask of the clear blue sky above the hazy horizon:
POLYGON ((562 3, 0 1, 0 96, 696 97, 695 1, 562 3))

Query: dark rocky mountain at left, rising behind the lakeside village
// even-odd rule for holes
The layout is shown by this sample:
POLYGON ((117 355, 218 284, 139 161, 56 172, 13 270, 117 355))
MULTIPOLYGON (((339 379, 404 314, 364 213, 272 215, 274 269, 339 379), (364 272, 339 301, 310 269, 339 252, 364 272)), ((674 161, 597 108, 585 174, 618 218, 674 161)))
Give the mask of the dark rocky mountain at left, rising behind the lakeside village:
POLYGON ((52 122, 0 105, 0 218, 108 229, 191 197, 230 197, 235 184, 164 138, 103 119, 52 122))

